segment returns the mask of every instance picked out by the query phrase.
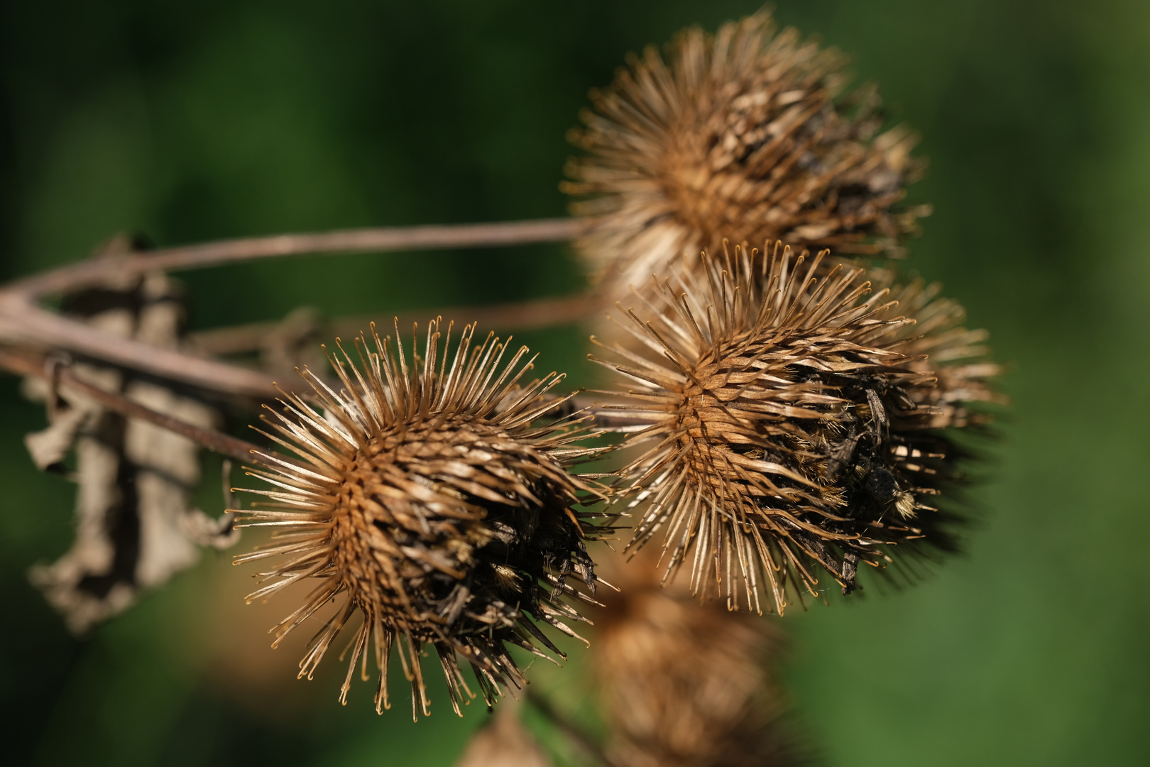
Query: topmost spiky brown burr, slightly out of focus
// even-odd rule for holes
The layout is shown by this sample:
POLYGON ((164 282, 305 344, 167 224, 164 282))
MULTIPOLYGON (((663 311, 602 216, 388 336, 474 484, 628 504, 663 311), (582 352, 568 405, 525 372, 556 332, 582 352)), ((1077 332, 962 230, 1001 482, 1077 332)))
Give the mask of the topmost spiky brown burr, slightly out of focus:
POLYGON ((762 11, 681 32, 592 92, 564 190, 601 216, 581 244, 613 298, 720 237, 894 254, 926 209, 897 212, 922 162, 904 126, 881 132, 873 87, 846 93, 845 60, 775 32, 762 11), (620 290, 621 289, 621 290, 620 290))

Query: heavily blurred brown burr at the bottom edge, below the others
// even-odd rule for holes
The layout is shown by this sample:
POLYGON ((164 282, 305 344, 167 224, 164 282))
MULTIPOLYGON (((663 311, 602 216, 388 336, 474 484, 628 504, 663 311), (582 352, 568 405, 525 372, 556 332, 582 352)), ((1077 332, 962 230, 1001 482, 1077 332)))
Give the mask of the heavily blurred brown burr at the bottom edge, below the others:
POLYGON ((620 568, 595 615, 591 668, 620 767, 775 767, 803 761, 768 662, 775 627, 685 589, 653 562, 620 568))

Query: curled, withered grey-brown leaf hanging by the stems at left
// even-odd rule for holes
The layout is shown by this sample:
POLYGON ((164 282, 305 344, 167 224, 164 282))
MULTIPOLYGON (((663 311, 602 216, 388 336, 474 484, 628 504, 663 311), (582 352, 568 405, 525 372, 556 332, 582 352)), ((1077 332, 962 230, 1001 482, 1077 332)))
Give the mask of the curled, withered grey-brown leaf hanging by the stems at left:
MULTIPOLYGON (((109 279, 66 296, 63 312, 105 331, 156 347, 182 345, 184 302, 162 274, 109 279)), ((205 402, 130 374, 77 363, 76 376, 189 423, 212 427, 218 413, 205 402)), ((37 565, 31 582, 85 634, 126 609, 199 558, 199 546, 227 546, 238 532, 225 515, 212 520, 189 508, 199 484, 199 447, 160 427, 106 411, 82 396, 54 394, 28 379, 25 394, 49 401, 51 424, 25 438, 40 468, 62 470, 75 452, 76 539, 60 559, 37 565)))

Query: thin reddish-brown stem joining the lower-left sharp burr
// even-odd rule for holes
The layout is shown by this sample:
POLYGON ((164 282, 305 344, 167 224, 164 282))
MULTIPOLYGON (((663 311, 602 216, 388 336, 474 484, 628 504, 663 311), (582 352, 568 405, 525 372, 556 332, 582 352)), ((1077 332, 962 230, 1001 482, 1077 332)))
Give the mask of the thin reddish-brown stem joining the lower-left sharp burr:
MULTIPOLYGON (((126 397, 110 391, 105 391, 99 386, 93 386, 92 384, 77 378, 76 375, 67 368, 60 368, 53 375, 49 373, 46 362, 47 361, 43 356, 33 358, 31 355, 17 354, 8 350, 0 348, 0 368, 3 368, 9 373, 24 376, 38 376, 45 379, 54 377, 59 385, 64 389, 71 389, 79 392, 84 397, 95 400, 109 411, 126 417, 139 419, 141 421, 154 423, 158 427, 187 437, 195 444, 215 453, 220 453, 221 455, 235 458, 245 462, 252 461, 253 457, 267 455, 266 451, 244 439, 232 437, 231 435, 223 434, 222 431, 216 431, 215 429, 205 429, 202 427, 187 423, 186 421, 174 419, 170 415, 164 415, 163 413, 153 411, 152 408, 145 407, 139 402, 132 401, 126 397)), ((283 457, 279 458, 283 459, 283 457)))

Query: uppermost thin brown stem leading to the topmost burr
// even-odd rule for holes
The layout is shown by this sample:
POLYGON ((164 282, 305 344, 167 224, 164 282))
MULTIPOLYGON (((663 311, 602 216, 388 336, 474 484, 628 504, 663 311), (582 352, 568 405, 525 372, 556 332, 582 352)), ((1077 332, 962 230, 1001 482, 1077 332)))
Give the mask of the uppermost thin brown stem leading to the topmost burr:
POLYGON ((589 222, 577 218, 540 218, 481 224, 347 229, 332 232, 220 240, 150 251, 146 254, 125 259, 84 261, 16 281, 3 291, 34 299, 51 293, 89 287, 113 275, 199 269, 284 255, 383 253, 388 251, 554 243, 583 235, 588 225, 589 222))

